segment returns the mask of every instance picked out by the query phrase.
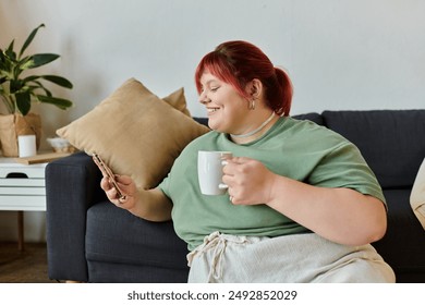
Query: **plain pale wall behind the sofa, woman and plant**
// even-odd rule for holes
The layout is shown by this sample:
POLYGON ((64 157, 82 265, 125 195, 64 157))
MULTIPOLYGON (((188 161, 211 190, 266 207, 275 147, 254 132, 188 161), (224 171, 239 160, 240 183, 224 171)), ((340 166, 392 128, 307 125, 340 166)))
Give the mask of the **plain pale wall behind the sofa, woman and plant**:
MULTIPOLYGON (((53 90, 74 100, 73 109, 36 109, 52 136, 132 76, 160 97, 183 86, 192 114, 204 115, 194 70, 230 39, 256 44, 289 71, 293 114, 423 109, 424 15, 421 0, 0 0, 0 46, 14 37, 21 46, 46 24, 29 51, 61 54, 44 70, 74 83, 53 90)), ((0 212, 0 223, 10 219, 0 212)), ((33 231, 28 239, 38 239, 33 231)))

